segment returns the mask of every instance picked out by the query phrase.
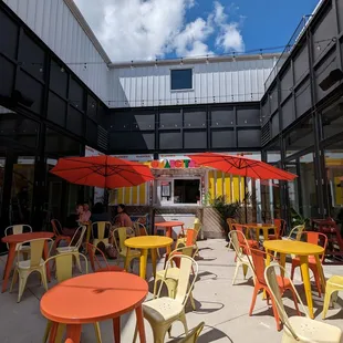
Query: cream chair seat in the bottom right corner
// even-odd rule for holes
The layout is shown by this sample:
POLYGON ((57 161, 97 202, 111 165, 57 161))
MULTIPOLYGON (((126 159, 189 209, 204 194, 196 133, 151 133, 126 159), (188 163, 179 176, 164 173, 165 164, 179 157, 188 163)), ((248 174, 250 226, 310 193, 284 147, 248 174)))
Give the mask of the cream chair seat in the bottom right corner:
POLYGON ((334 343, 341 342, 342 331, 341 329, 325 324, 319 321, 314 321, 305 316, 291 316, 289 322, 292 329, 297 333, 300 341, 295 341, 289 330, 284 326, 284 334, 282 342, 321 342, 321 343, 334 343), (287 339, 284 337, 287 335, 287 339))

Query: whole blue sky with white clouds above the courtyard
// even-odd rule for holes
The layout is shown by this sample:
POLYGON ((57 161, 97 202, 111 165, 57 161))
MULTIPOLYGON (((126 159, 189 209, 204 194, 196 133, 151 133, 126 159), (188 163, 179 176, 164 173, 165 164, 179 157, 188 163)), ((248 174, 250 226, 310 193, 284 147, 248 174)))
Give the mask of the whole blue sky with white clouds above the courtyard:
POLYGON ((285 45, 319 0, 74 0, 114 62, 285 45))

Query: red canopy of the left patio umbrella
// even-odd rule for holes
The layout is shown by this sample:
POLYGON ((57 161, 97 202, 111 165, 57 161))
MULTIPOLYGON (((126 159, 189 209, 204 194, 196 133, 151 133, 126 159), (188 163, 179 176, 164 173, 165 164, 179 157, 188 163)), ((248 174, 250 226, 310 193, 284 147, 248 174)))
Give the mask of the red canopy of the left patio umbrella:
POLYGON ((147 166, 106 155, 60 158, 50 173, 72 184, 102 188, 137 186, 154 179, 147 166))

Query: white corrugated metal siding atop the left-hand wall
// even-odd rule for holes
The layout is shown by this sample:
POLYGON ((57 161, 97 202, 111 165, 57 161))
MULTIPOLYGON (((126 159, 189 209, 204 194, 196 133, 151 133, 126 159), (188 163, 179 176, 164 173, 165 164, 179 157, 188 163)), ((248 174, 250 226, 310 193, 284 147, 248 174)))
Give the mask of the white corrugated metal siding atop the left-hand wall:
POLYGON ((3 1, 100 98, 108 98, 106 62, 63 0, 3 1), (75 64, 83 62, 86 67, 75 64))

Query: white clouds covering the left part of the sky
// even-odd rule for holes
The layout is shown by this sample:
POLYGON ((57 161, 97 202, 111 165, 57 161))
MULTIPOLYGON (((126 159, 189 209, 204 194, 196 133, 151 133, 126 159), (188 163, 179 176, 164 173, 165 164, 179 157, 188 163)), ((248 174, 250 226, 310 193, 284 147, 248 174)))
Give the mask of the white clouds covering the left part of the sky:
POLYGON ((168 53, 204 56, 212 54, 212 48, 243 50, 239 24, 229 21, 218 1, 207 17, 191 22, 186 13, 195 0, 74 1, 113 61, 153 60, 168 53))

